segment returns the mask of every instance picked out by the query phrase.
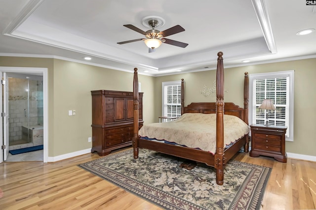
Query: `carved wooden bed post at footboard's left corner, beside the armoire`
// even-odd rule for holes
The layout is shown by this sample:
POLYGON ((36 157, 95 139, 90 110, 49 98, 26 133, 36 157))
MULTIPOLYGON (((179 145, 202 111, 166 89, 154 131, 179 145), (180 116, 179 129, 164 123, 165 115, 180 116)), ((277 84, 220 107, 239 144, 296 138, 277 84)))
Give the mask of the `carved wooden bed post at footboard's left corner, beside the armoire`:
POLYGON ((134 151, 134 158, 138 158, 138 130, 139 130, 139 124, 138 124, 138 120, 139 120, 139 115, 138 115, 138 106, 139 106, 139 102, 138 102, 138 75, 137 75, 137 68, 134 68, 134 80, 133 80, 133 100, 134 100, 134 136, 133 136, 133 151, 134 151))

